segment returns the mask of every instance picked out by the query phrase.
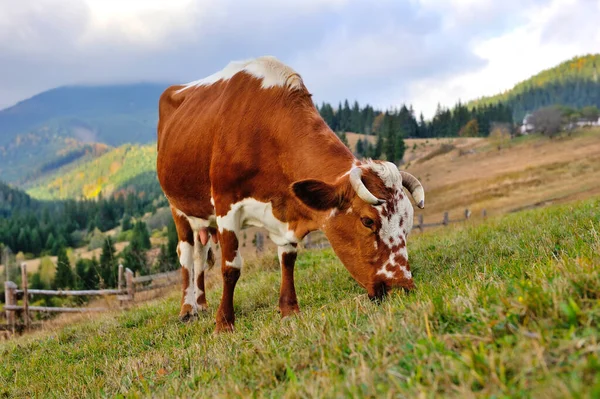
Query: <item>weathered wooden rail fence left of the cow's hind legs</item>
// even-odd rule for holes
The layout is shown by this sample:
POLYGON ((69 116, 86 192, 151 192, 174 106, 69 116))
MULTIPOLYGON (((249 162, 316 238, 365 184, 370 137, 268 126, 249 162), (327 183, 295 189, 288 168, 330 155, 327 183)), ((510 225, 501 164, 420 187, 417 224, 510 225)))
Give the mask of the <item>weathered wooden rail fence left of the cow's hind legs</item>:
POLYGON ((12 282, 4 283, 4 311, 6 312, 6 329, 13 334, 18 327, 24 330, 31 328, 31 312, 52 312, 52 313, 87 313, 87 312, 105 312, 109 308, 102 307, 48 307, 48 306, 30 306, 30 295, 52 295, 52 296, 109 296, 116 295, 121 307, 130 304, 135 299, 136 292, 156 290, 177 284, 180 279, 180 272, 173 271, 168 273, 158 273, 148 276, 135 277, 129 269, 124 269, 119 265, 118 287, 116 289, 105 290, 38 290, 30 289, 27 281, 27 265, 21 265, 21 289, 12 282), (155 284, 155 282, 159 282, 155 284), (18 299, 22 298, 22 304, 18 304, 18 299), (23 320, 22 325, 17 324, 17 317, 23 320))

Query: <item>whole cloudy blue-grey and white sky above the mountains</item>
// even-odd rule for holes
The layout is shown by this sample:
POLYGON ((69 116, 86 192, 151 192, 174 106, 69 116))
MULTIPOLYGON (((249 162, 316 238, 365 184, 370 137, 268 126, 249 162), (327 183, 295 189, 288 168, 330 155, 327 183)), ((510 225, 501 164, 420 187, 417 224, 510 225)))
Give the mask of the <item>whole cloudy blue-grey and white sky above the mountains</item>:
POLYGON ((430 118, 600 53, 600 0, 0 0, 0 109, 57 86, 185 83, 273 55, 317 102, 430 118))

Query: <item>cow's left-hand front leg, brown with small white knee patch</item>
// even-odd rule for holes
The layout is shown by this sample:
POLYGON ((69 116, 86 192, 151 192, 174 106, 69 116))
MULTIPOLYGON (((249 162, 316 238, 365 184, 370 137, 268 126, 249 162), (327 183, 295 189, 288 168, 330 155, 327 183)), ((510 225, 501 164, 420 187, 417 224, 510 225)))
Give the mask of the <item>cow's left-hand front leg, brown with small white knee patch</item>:
POLYGON ((238 251, 239 242, 236 231, 223 229, 219 232, 221 243, 221 273, 223 275, 223 296, 217 310, 216 332, 233 331, 235 315, 233 313, 233 292, 240 278, 242 257, 238 251))

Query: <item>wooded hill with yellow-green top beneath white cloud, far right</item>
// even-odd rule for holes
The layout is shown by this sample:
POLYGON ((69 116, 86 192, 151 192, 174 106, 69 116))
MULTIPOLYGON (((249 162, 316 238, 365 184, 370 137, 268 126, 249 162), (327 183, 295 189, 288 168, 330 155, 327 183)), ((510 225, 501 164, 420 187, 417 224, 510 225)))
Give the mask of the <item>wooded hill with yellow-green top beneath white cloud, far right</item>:
POLYGON ((574 108, 588 105, 600 107, 600 54, 574 57, 554 68, 516 84, 504 93, 482 97, 468 106, 508 105, 515 121, 548 105, 561 104, 574 108))

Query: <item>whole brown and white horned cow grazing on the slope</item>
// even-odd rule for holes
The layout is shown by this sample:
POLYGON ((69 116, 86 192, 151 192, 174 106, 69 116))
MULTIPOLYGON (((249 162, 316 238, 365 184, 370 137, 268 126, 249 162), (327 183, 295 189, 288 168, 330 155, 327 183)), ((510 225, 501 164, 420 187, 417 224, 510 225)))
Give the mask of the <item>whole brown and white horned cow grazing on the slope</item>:
POLYGON ((180 319, 206 309, 209 237, 221 245, 223 296, 217 331, 232 330, 233 293, 242 269, 240 231, 261 226, 278 246, 279 308, 298 312, 296 247, 313 230, 372 299, 414 287, 406 239, 423 187, 382 161, 361 161, 319 115, 302 79, 274 57, 225 69, 162 94, 158 178, 179 236, 180 319))

